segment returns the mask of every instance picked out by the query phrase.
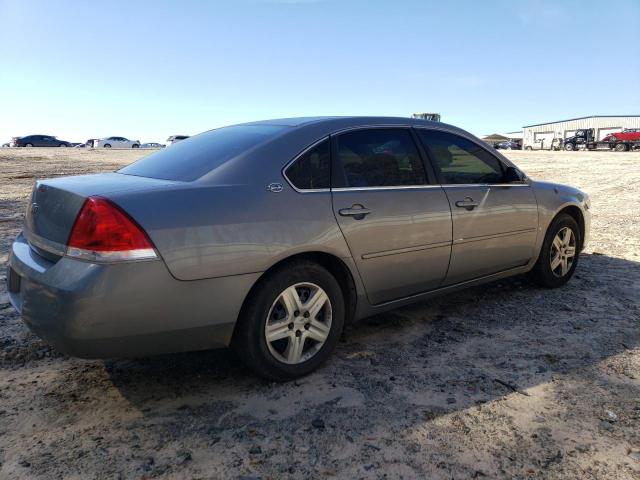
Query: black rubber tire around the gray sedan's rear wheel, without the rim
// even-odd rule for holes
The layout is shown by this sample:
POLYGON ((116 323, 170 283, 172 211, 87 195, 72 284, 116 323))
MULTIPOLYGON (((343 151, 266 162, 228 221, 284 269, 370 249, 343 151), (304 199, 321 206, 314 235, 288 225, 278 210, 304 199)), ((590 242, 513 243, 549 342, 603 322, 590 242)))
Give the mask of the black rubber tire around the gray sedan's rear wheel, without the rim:
POLYGON ((311 373, 329 357, 342 334, 344 318, 344 296, 333 275, 318 264, 295 261, 260 279, 245 301, 231 344, 240 359, 261 377, 274 381, 292 380, 311 373), (325 342, 311 358, 287 364, 271 353, 265 338, 265 326, 279 295, 303 282, 313 283, 327 294, 332 311, 331 327, 325 342))

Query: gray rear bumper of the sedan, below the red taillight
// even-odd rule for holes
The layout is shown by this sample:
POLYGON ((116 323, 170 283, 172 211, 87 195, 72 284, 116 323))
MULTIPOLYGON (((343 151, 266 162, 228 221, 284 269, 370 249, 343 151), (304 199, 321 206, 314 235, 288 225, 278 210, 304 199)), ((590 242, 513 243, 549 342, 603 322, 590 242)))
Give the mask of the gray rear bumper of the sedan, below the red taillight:
POLYGON ((226 346, 260 276, 180 281, 161 260, 53 263, 23 234, 12 245, 9 269, 9 298, 25 324, 56 349, 84 358, 226 346))

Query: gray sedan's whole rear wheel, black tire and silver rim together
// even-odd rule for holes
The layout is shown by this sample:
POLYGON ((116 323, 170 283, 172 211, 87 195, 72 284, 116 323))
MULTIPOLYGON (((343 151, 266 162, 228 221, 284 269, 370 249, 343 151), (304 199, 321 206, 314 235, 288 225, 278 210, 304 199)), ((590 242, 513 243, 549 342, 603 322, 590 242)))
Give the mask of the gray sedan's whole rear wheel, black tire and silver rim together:
POLYGON ((342 289, 320 265, 295 262, 262 279, 247 298, 233 336, 238 356, 258 375, 307 375, 331 354, 344 326, 342 289))

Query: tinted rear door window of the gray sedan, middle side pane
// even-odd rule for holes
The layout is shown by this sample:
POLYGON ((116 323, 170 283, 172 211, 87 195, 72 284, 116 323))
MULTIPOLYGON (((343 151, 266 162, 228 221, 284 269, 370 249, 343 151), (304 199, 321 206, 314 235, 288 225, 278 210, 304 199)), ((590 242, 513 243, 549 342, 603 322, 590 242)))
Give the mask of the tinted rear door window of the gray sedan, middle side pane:
POLYGON ((422 160, 408 130, 371 129, 338 137, 336 186, 423 185, 422 160))

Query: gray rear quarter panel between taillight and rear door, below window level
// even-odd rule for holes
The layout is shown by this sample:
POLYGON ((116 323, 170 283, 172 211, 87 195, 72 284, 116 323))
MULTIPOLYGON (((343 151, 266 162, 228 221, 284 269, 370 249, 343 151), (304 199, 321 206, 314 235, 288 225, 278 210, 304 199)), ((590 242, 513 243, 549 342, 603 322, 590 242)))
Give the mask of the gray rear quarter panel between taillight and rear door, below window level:
POLYGON ((110 196, 146 230, 179 280, 263 272, 297 253, 350 257, 330 192, 201 185, 110 196))

